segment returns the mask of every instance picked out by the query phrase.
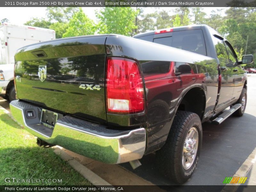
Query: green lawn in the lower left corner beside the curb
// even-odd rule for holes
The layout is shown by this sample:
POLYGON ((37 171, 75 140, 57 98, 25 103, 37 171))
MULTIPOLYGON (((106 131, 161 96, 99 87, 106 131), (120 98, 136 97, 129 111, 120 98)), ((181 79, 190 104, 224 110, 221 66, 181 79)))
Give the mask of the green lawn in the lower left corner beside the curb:
POLYGON ((36 145, 35 136, 0 110, 0 185, 91 185, 57 156, 36 145), (61 179, 61 183, 6 183, 5 178, 61 179))

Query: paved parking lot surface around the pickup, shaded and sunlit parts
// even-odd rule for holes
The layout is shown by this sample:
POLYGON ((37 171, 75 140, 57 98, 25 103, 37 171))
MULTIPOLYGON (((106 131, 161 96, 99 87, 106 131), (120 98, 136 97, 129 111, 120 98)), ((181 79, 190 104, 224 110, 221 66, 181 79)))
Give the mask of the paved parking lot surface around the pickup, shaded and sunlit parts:
MULTIPOLYGON (((230 116, 220 125, 203 124, 203 145, 196 171, 184 185, 223 185, 225 177, 232 177, 256 148, 256 74, 248 76, 247 106, 242 117, 230 116)), ((0 100, 9 110, 9 103, 0 100)), ((35 140, 36 142, 36 140, 35 140)), ((144 156, 141 166, 132 170, 129 163, 106 165, 68 152, 112 185, 175 185, 158 173, 155 154, 144 156)), ((254 157, 256 159, 256 157, 254 157)), ((244 169, 245 184, 256 185, 256 167, 244 169), (248 172, 249 171, 249 172, 248 172)))

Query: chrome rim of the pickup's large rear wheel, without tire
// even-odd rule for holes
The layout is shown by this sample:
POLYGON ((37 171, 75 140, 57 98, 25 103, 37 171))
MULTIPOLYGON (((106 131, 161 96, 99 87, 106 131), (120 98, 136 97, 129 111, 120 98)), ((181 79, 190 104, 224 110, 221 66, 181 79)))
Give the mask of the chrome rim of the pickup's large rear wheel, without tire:
POLYGON ((195 161, 198 138, 196 127, 190 128, 183 147, 182 166, 185 170, 188 170, 195 161))

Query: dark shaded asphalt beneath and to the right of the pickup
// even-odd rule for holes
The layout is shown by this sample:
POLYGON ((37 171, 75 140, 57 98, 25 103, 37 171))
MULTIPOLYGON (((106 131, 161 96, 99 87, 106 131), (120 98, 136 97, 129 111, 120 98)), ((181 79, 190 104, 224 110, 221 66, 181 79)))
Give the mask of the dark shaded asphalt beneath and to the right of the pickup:
MULTIPOLYGON (((224 187, 225 177, 233 176, 256 146, 255 122, 255 116, 245 113, 242 117, 231 116, 220 125, 204 123, 199 162, 184 185, 224 187)), ((156 185, 175 185, 158 172, 155 154, 144 156, 140 162, 142 165, 135 170, 129 163, 121 165, 156 185)))

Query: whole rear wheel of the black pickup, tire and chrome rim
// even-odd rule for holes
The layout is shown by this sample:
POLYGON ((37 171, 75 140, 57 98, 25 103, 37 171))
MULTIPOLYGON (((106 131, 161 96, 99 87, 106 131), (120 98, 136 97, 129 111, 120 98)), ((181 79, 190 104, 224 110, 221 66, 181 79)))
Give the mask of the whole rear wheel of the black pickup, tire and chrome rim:
POLYGON ((160 171, 176 183, 186 182, 196 168, 201 145, 199 116, 188 111, 177 111, 164 146, 156 151, 160 171))

